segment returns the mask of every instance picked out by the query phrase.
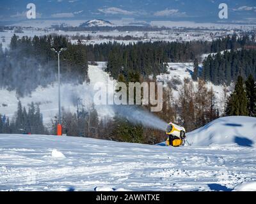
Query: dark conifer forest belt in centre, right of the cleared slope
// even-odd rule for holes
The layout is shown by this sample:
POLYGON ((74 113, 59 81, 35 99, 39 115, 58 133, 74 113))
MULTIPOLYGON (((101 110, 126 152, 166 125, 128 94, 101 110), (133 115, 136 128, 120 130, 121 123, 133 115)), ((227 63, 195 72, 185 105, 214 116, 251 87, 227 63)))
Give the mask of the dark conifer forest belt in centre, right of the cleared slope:
POLYGON ((209 42, 138 42, 124 45, 102 43, 88 45, 90 61, 108 61, 106 71, 112 77, 122 74, 127 79, 129 72, 138 73, 144 78, 156 76, 166 71, 167 62, 193 61, 196 55, 211 50, 209 42))

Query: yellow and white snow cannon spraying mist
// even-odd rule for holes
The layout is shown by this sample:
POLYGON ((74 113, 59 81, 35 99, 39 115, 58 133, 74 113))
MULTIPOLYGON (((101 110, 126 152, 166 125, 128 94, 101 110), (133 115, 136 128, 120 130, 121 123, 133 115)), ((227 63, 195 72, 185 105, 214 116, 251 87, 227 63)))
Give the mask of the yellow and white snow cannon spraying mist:
POLYGON ((170 122, 166 128, 165 134, 167 136, 166 146, 180 147, 185 144, 186 139, 185 128, 170 122))

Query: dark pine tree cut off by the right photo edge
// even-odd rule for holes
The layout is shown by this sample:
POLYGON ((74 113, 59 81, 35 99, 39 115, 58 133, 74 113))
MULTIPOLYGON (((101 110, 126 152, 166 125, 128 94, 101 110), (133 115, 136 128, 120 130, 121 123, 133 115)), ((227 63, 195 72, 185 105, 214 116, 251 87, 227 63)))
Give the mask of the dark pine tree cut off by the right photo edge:
POLYGON ((246 82, 246 95, 248 98, 248 113, 250 116, 255 117, 256 114, 256 85, 252 75, 250 75, 246 82))

